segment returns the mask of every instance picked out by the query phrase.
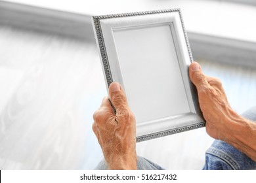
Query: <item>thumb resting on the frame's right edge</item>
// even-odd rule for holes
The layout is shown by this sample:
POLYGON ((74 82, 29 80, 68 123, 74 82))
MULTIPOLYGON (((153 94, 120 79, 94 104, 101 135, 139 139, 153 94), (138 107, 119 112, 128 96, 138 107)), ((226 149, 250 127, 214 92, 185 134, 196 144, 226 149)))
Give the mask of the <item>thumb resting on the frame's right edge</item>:
POLYGON ((203 74, 202 69, 197 62, 193 62, 189 67, 190 80, 194 83, 198 90, 202 89, 203 86, 207 86, 208 82, 206 76, 203 74))

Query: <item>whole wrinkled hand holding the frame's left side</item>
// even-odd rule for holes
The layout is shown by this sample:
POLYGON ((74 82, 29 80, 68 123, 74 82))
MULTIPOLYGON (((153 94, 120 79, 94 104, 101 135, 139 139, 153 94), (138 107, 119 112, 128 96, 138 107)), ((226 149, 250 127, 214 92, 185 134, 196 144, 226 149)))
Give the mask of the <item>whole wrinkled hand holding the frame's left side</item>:
POLYGON ((108 97, 104 97, 93 114, 93 131, 109 169, 137 169, 135 116, 118 83, 110 84, 109 95, 116 114, 108 97))

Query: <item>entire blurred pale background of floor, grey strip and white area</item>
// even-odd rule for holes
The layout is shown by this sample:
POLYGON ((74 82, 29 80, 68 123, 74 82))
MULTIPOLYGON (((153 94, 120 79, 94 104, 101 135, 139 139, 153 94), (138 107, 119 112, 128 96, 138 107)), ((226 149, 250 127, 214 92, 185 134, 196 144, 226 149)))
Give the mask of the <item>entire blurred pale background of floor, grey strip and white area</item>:
MULTIPOLYGON (((93 169, 91 125, 106 95, 91 16, 181 8, 197 60, 238 113, 256 105, 253 0, 0 1, 0 169, 93 169)), ((137 143, 165 169, 202 169, 205 129, 137 143)))

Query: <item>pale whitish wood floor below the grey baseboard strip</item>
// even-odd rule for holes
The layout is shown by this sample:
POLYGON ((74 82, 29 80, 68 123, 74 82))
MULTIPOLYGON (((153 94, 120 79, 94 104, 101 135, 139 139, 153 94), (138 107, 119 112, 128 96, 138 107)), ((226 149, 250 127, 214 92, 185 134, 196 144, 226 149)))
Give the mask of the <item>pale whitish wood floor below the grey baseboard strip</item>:
MULTIPOLYGON (((200 61, 223 81, 239 113, 256 104, 256 69, 200 61)), ((0 169, 93 169, 91 130, 106 95, 94 44, 0 26, 0 169)), ((201 169, 205 129, 139 142, 137 154, 167 169, 201 169)))

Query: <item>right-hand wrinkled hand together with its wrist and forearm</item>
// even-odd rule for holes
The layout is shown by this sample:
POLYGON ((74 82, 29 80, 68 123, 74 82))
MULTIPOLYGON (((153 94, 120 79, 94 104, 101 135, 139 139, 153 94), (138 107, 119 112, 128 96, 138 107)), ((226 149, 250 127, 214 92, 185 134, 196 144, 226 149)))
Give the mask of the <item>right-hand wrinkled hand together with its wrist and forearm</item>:
POLYGON ((231 144, 256 161, 256 124, 232 110, 221 81, 204 75, 198 63, 190 65, 189 74, 198 90, 207 133, 231 144))

